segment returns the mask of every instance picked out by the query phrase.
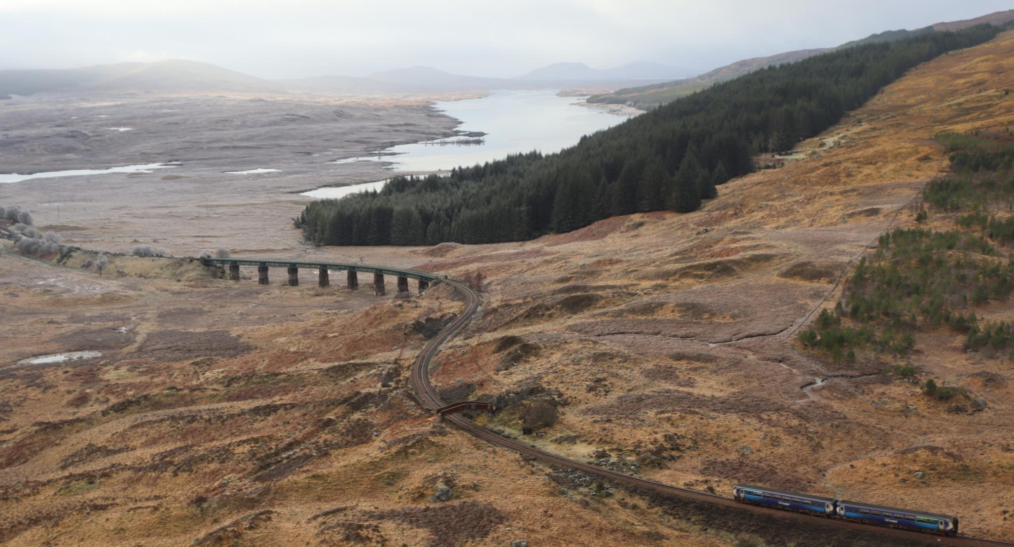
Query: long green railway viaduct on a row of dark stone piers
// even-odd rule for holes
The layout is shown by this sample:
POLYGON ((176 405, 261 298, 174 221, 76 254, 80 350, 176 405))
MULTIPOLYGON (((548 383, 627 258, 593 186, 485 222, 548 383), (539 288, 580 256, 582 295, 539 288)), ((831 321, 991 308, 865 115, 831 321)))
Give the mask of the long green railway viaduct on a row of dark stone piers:
POLYGON ((220 266, 229 271, 229 279, 239 281, 239 268, 241 266, 257 266, 258 283, 268 285, 268 271, 272 267, 284 267, 289 274, 289 286, 299 285, 299 268, 316 269, 317 285, 319 287, 330 287, 332 270, 345 270, 346 284, 349 289, 359 289, 359 272, 373 274, 373 294, 386 294, 384 287, 384 276, 397 278, 397 292, 409 292, 409 280, 419 282, 419 292, 422 293, 430 284, 441 280, 440 276, 429 271, 418 269, 400 269, 390 266, 363 264, 358 262, 306 262, 302 260, 285 260, 277 258, 212 258, 202 257, 201 264, 206 266, 220 266))

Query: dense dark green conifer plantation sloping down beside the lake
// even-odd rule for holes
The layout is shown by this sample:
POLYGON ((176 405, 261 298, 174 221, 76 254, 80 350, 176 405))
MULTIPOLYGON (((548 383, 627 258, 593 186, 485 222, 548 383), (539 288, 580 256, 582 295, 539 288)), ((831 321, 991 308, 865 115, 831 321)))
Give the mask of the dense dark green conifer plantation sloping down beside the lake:
POLYGON ((391 179, 381 191, 307 206, 307 240, 332 245, 492 243, 567 232, 615 215, 695 211, 759 152, 819 134, 910 68, 1000 27, 848 48, 759 70, 585 136, 566 150, 391 179))

